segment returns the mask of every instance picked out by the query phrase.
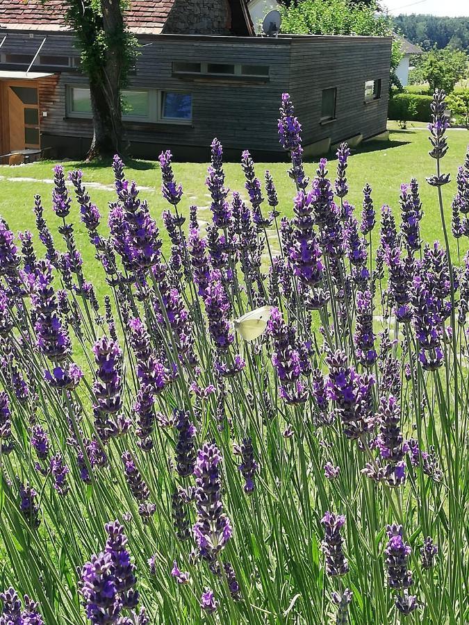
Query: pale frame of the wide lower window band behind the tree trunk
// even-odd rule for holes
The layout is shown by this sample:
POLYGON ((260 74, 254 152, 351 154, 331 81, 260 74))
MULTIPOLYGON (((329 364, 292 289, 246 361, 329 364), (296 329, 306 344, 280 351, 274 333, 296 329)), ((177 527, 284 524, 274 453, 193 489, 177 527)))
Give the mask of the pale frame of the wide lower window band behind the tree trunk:
MULTIPOLYGON (((90 90, 88 85, 66 85, 65 88, 65 103, 67 110, 67 117, 72 119, 91 119, 92 113, 91 111, 77 111, 73 108, 74 103, 74 90, 75 89, 85 89, 90 90)), ((131 113, 126 114, 122 113, 122 120, 124 122, 138 122, 143 124, 182 124, 182 125, 190 125, 192 124, 193 117, 193 96, 192 93, 184 90, 159 90, 159 89, 143 89, 143 88, 133 88, 126 89, 122 92, 124 99, 125 93, 140 93, 147 94, 148 101, 148 114, 147 115, 132 115, 131 113), (190 96, 190 117, 164 117, 163 116, 163 106, 165 102, 165 94, 174 93, 190 96)))

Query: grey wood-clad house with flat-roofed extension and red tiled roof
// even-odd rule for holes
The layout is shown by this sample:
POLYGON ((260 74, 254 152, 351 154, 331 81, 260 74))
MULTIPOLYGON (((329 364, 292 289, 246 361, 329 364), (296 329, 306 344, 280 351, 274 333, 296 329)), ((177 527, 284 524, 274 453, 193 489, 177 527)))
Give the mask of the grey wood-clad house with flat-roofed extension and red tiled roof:
MULTIPOLYGON (((90 92, 64 2, 0 0, 0 154, 81 158, 89 147, 90 92)), ((235 158, 283 158, 283 92, 306 153, 386 130, 390 38, 258 37, 245 0, 131 0, 126 22, 140 43, 122 93, 133 156, 207 158, 216 136, 235 158)))

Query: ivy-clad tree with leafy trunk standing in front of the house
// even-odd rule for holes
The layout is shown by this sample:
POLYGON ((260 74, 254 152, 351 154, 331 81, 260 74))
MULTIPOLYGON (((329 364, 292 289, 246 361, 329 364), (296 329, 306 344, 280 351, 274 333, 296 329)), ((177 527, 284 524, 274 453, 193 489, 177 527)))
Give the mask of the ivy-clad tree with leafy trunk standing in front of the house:
POLYGON ((88 160, 124 148, 121 90, 137 49, 124 24, 125 7, 126 0, 67 0, 65 21, 76 33, 90 81, 93 138, 88 160))

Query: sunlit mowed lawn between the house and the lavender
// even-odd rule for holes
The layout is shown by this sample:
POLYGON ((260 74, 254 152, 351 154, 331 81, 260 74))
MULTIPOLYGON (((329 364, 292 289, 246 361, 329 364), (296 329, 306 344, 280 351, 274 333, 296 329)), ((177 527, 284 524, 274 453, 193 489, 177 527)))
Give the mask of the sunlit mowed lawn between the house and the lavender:
MULTIPOLYGON (((349 180, 348 201, 356 206, 356 216, 360 217, 362 189, 365 183, 372 187, 372 198, 377 209, 383 204, 389 204, 395 213, 397 224, 400 221, 399 194, 400 185, 408 183, 415 177, 420 183, 421 199, 423 203, 424 218, 422 221, 422 237, 427 242, 441 240, 443 232, 441 227, 440 210, 435 188, 430 187, 425 178, 434 174, 435 161, 428 155, 430 147, 427 131, 419 127, 409 126, 406 130, 397 128, 390 122, 390 140, 386 142, 369 142, 363 144, 356 151, 352 151, 349 158, 347 177, 349 180)), ((448 228, 451 223, 451 202, 456 191, 456 172, 463 163, 469 142, 469 133, 461 130, 448 131, 448 143, 450 149, 443 160, 443 172, 450 172, 452 182, 443 188, 445 200, 445 218, 448 228)), ((171 146, 168 146, 170 148, 171 146)), ((158 155, 155 154, 155 157, 158 155)), ((334 180, 336 172, 336 158, 329 155, 329 176, 334 180)), ((309 159, 305 169, 311 178, 315 175, 318 159, 309 159)), ((0 215, 6 219, 10 228, 15 231, 29 229, 35 233, 35 219, 33 213, 33 197, 35 194, 42 196, 44 215, 47 217, 49 227, 60 249, 63 244, 57 233, 59 220, 56 219, 51 209, 51 192, 53 188, 53 162, 43 161, 22 165, 19 167, 0 166, 0 215)), ((67 161, 63 163, 66 172, 81 168, 84 172, 85 183, 92 183, 89 188, 92 201, 97 204, 103 215, 102 231, 106 233, 108 215, 108 202, 115 201, 113 191, 113 172, 110 163, 85 164, 67 161)), ((195 204, 199 207, 199 217, 202 221, 211 218, 210 195, 205 186, 207 164, 204 163, 174 163, 176 178, 183 185, 184 195, 180 204, 181 211, 188 215, 189 207, 195 204)), ((282 215, 293 215, 293 198, 295 188, 293 181, 288 177, 288 163, 257 163, 256 173, 263 178, 265 169, 269 169, 274 177, 279 195, 279 210, 282 215)), ((231 190, 239 190, 247 199, 244 189, 245 181, 239 163, 226 163, 225 172, 227 185, 231 190)), ((161 234, 165 244, 167 237, 161 219, 161 214, 167 203, 161 196, 161 176, 158 161, 130 161, 126 167, 126 176, 135 180, 140 188, 140 197, 149 203, 151 214, 161 228, 161 234)), ((71 219, 75 222, 76 242, 83 254, 85 275, 94 282, 99 294, 105 290, 103 273, 94 260, 94 249, 88 242, 85 228, 79 221, 79 208, 74 201, 72 205, 71 219)), ((271 244, 276 249, 273 231, 271 244)), ((379 236, 378 228, 375 228, 375 241, 379 236)), ((35 236, 37 240, 37 235, 35 236)), ((456 241, 452 239, 452 256, 457 262, 458 256, 462 258, 468 249, 467 240, 460 240, 459 249, 456 241)), ((277 245, 278 247, 278 245, 277 245)))

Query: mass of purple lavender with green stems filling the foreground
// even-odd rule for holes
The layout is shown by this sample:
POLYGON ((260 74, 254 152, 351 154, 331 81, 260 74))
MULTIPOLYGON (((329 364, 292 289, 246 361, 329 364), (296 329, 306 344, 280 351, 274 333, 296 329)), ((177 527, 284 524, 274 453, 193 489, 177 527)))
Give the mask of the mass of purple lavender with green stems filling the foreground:
POLYGON ((214 140, 208 224, 170 151, 164 237, 117 156, 108 207, 57 165, 1 220, 0 625, 469 622, 469 152, 432 112, 399 210, 347 201, 347 144, 306 176, 284 94, 293 219, 214 140))

